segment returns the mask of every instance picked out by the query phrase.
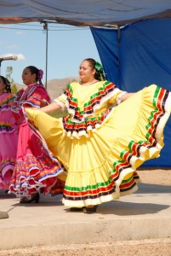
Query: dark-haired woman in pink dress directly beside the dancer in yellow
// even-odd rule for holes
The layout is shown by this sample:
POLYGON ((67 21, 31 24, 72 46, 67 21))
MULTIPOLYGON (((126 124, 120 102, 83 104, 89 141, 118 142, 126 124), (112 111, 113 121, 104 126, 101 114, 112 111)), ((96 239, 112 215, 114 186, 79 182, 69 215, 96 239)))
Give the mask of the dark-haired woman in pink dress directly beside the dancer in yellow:
POLYGON ((43 71, 29 66, 23 70, 22 79, 27 88, 14 102, 10 102, 20 127, 17 159, 9 193, 21 197, 20 203, 39 201, 39 191, 45 195, 63 192, 64 183, 58 175, 63 172, 60 163, 44 147, 41 140, 31 131, 25 108, 41 108, 48 105, 50 97, 42 84, 43 71))

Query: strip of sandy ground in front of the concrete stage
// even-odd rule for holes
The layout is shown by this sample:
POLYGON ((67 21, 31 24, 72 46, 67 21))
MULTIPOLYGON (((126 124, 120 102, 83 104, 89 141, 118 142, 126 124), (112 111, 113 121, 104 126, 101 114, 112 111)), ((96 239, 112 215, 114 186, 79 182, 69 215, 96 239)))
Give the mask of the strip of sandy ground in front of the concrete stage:
POLYGON ((53 247, 29 247, 0 252, 1 256, 170 256, 171 239, 117 241, 53 247))

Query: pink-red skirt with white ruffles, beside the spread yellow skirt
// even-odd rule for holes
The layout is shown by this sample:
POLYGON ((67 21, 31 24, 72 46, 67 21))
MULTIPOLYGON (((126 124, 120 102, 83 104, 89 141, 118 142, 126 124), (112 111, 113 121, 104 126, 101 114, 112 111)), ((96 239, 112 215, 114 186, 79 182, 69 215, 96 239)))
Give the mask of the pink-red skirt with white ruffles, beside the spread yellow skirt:
POLYGON ((43 143, 26 122, 20 125, 16 164, 9 193, 30 196, 37 191, 44 195, 62 194, 64 182, 58 177, 62 166, 43 148, 43 143))

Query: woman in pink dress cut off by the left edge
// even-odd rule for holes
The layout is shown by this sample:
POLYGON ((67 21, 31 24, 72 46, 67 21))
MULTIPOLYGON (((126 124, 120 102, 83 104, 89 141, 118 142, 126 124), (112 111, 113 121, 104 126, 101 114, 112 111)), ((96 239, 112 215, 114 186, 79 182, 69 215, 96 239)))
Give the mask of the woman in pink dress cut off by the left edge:
POLYGON ((9 189, 16 160, 18 129, 8 105, 12 97, 9 80, 0 76, 0 189, 9 189))

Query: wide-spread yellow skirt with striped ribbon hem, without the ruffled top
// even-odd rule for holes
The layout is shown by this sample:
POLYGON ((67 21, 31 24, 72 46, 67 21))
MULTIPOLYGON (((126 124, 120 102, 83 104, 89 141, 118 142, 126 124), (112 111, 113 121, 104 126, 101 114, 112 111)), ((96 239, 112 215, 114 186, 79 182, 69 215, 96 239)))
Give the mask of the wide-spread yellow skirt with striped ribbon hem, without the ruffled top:
POLYGON ((112 108, 100 128, 80 139, 67 137, 62 119, 39 110, 26 113, 67 170, 64 205, 84 207, 138 189, 136 169, 159 157, 170 110, 170 92, 152 84, 112 108))

